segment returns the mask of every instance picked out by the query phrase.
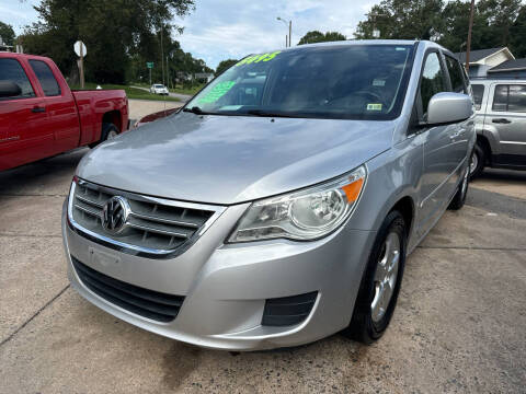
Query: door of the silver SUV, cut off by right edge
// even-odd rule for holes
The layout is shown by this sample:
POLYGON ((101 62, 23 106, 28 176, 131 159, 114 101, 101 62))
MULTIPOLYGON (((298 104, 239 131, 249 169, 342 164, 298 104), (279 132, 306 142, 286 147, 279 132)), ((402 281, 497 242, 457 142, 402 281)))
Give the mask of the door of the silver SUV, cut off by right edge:
POLYGON ((493 162, 526 166, 526 83, 494 83, 491 96, 484 123, 498 135, 499 151, 493 152, 493 162))

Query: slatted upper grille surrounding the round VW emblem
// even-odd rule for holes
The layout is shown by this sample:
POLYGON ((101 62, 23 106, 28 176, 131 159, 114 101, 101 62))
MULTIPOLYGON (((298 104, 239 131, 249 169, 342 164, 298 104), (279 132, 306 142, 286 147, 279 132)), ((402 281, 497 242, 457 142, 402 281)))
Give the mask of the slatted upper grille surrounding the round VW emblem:
POLYGON ((105 241, 159 253, 174 252, 195 241, 207 221, 217 213, 217 207, 202 207, 114 190, 81 179, 75 185, 71 201, 73 221, 81 229, 99 234, 105 241), (124 197, 129 205, 126 230, 117 234, 102 227, 103 207, 115 196, 124 197))

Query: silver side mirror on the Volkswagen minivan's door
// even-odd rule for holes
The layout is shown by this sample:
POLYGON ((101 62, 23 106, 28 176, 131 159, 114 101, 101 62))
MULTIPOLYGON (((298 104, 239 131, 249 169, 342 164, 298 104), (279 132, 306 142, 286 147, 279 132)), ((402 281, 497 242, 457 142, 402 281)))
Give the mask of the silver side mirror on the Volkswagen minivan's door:
POLYGON ((471 97, 462 93, 436 93, 427 105, 427 124, 466 120, 473 114, 471 97))

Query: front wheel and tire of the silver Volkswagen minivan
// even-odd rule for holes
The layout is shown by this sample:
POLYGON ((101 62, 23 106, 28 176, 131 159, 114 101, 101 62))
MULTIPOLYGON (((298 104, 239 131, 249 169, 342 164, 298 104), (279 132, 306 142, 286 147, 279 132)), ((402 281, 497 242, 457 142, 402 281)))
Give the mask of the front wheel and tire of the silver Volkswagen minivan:
POLYGON ((343 332, 345 336, 370 345, 384 335, 400 292, 405 266, 405 246, 407 231, 403 217, 397 210, 391 211, 384 219, 373 245, 351 324, 343 332))

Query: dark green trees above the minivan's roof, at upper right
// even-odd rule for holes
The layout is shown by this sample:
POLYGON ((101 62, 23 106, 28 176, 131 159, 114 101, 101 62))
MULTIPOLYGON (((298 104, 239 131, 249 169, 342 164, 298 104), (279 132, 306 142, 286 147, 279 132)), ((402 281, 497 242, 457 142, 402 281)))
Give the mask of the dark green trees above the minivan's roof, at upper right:
MULTIPOLYGON (((526 54, 526 5, 521 0, 476 2, 471 49, 507 46, 516 56, 526 54)), ((453 51, 466 50, 470 2, 445 0, 382 0, 359 22, 355 37, 433 39, 453 51)))

